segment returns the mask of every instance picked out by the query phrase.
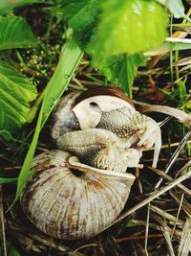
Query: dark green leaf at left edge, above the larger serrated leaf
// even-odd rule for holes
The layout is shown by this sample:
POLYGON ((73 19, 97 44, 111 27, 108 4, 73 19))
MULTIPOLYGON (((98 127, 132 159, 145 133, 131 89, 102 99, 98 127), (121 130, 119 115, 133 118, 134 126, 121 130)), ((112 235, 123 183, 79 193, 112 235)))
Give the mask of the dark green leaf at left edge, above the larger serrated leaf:
POLYGON ((33 45, 35 39, 25 19, 14 15, 6 17, 0 15, 0 50, 33 45))

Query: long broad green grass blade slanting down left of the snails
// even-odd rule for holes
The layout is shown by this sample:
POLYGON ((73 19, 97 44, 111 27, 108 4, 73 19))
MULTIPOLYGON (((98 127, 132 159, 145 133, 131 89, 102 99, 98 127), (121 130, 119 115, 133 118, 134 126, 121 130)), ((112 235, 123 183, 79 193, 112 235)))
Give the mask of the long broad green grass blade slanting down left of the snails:
POLYGON ((50 116, 53 107, 56 105, 62 93, 65 91, 69 81, 74 75, 74 71, 76 70, 76 67, 82 56, 83 52, 77 46, 74 37, 71 37, 61 55, 58 65, 53 73, 53 77, 47 85, 46 93, 42 102, 36 128, 33 134, 32 144, 26 155, 20 175, 18 176, 16 195, 11 206, 21 195, 27 179, 32 174, 30 172, 30 169, 34 152, 37 146, 40 130, 43 128, 45 122, 50 116))

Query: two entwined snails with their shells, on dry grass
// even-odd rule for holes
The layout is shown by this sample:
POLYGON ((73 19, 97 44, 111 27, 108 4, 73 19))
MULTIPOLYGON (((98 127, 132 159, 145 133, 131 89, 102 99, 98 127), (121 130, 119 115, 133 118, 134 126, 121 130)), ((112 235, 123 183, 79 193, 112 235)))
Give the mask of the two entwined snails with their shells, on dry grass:
POLYGON ((158 123, 114 87, 66 95, 52 136, 58 150, 34 158, 21 205, 40 230, 67 240, 95 236, 117 218, 135 180, 127 168, 141 167, 153 145, 156 166, 161 145, 158 123))

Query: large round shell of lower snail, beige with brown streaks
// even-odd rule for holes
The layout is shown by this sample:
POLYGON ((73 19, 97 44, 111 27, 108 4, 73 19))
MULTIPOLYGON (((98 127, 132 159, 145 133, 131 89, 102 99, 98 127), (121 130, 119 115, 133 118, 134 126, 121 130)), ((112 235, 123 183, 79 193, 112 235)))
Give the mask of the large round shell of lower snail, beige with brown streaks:
POLYGON ((32 163, 35 174, 20 202, 43 232, 60 239, 90 238, 122 211, 134 175, 97 170, 65 151, 48 151, 32 163))

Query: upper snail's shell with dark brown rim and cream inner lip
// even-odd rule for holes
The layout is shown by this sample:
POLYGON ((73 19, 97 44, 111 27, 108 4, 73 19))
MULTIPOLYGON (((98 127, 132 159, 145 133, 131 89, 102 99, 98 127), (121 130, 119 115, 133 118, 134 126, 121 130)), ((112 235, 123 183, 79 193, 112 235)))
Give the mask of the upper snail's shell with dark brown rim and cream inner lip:
POLYGON ((71 91, 53 111, 52 137, 56 140, 66 132, 96 128, 102 111, 123 106, 135 111, 133 102, 117 87, 96 86, 85 91, 71 91))

